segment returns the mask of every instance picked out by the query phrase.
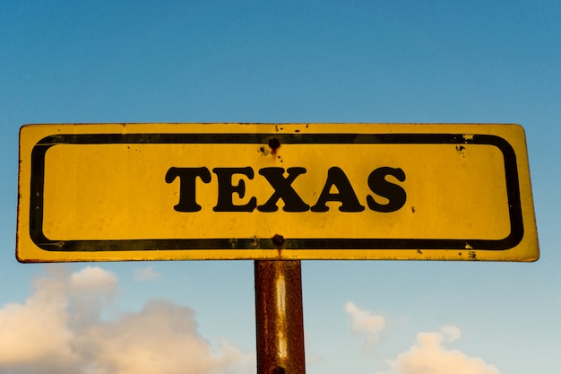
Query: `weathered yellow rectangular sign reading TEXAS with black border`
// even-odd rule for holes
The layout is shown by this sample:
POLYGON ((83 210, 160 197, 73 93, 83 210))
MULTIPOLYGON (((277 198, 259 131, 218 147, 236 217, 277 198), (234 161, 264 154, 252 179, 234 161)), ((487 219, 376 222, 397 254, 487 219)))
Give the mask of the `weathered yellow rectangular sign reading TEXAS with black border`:
POLYGON ((85 124, 20 132, 22 262, 534 261, 518 125, 85 124))

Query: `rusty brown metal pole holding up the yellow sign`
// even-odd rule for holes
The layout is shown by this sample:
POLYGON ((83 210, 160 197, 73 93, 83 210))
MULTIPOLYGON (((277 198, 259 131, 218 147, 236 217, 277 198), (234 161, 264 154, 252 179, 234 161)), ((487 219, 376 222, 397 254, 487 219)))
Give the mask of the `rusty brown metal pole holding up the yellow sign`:
POLYGON ((255 261, 257 374, 305 374, 300 261, 255 261))

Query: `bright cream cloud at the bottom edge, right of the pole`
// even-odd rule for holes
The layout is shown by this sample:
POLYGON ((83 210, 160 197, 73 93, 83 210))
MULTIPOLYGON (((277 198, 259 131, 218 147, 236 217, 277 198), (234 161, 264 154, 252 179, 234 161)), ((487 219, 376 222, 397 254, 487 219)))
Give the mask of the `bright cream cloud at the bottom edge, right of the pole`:
POLYGON ((409 351, 387 361, 390 370, 376 374, 500 374, 494 365, 444 346, 461 336, 456 326, 445 326, 437 333, 419 333, 409 351))

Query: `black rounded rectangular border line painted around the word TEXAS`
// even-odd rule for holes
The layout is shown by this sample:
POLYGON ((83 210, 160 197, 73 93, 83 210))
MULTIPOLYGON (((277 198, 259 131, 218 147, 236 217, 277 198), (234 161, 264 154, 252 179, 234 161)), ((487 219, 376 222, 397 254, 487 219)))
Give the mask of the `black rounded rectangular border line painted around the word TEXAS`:
POLYGON ((263 144, 272 138, 280 144, 487 144, 504 156, 510 234, 504 239, 290 239, 285 249, 457 249, 506 250, 516 247, 524 235, 522 203, 516 154, 505 139, 496 135, 462 134, 77 134, 50 135, 31 151, 30 238, 48 251, 128 251, 275 248, 271 239, 118 239, 56 240, 43 233, 43 188, 45 155, 57 144, 263 144))

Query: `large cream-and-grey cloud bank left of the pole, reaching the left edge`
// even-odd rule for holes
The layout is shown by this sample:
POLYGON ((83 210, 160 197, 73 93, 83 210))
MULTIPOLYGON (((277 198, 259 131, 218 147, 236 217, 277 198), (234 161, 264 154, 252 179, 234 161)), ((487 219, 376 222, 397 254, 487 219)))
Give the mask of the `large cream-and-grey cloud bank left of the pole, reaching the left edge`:
POLYGON ((139 313, 99 315, 117 276, 99 267, 49 267, 22 304, 0 309, 0 372, 214 374, 255 372, 255 355, 199 335, 194 311, 151 300, 139 313))

